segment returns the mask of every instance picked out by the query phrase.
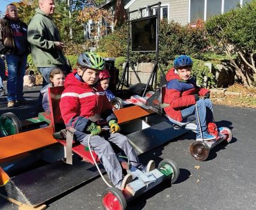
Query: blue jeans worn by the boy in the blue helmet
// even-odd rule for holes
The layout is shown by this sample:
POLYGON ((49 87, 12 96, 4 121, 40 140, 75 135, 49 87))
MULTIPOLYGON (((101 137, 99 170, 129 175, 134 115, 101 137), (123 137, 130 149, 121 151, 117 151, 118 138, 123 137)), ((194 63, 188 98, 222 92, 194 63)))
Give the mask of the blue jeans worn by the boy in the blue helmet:
MULTIPOLYGON (((205 99, 200 98, 198 101, 196 101, 196 105, 198 110, 198 116, 200 118, 201 129, 202 129, 202 132, 205 132, 207 131, 207 124, 213 121, 212 101, 209 98, 205 98, 205 99)), ((197 117, 197 114, 195 113, 195 110, 196 110, 196 106, 191 105, 188 108, 182 109, 181 115, 182 115, 182 118, 184 119, 188 116, 195 114, 196 124, 197 124, 196 133, 199 134, 200 127, 199 127, 198 117, 197 117)))

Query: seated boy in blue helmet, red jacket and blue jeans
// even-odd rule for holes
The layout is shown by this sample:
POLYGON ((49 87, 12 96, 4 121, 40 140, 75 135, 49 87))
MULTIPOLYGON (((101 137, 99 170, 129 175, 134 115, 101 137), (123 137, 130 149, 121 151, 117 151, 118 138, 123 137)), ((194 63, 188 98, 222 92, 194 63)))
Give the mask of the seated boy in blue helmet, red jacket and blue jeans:
POLYGON ((209 99, 210 91, 196 86, 195 79, 191 77, 192 66, 193 61, 189 56, 181 55, 175 58, 174 68, 171 68, 166 74, 168 82, 164 103, 169 103, 170 106, 165 107, 164 111, 168 116, 180 122, 195 114, 196 140, 212 140, 216 137, 207 132, 207 124, 211 123, 213 119, 212 102, 209 99), (196 106, 200 121, 195 113, 196 106))

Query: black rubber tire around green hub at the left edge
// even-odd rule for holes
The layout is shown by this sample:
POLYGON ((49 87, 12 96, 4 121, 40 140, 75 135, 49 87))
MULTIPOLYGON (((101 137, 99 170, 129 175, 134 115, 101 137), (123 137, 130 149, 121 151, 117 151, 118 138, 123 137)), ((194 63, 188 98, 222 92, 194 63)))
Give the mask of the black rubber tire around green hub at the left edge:
POLYGON ((3 135, 3 137, 22 132, 22 124, 20 122, 20 119, 12 112, 6 112, 0 116, 0 127, 1 127, 0 132, 1 132, 1 135, 3 135), (6 119, 9 119, 10 121, 12 121, 12 124, 15 128, 15 133, 8 133, 8 131, 2 128, 2 121, 5 121, 6 119))

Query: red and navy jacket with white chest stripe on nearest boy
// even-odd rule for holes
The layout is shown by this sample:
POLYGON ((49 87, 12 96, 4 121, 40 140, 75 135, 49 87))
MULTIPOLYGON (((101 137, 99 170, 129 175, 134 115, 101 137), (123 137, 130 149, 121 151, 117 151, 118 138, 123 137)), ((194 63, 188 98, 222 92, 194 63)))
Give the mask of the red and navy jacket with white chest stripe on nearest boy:
POLYGON ((98 82, 90 86, 82 82, 75 71, 66 77, 64 86, 60 100, 61 116, 66 126, 77 130, 76 140, 82 140, 85 133, 88 133, 86 129, 92 123, 89 117, 101 114, 107 121, 116 119, 112 106, 98 82))

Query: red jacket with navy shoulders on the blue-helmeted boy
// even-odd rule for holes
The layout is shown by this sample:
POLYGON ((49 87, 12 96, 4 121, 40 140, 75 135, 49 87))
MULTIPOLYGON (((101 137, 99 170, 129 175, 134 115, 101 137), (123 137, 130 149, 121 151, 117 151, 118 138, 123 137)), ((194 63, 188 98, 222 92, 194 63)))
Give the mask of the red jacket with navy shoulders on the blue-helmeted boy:
POLYGON ((197 87, 195 79, 191 77, 189 80, 180 80, 174 68, 166 73, 166 93, 164 95, 164 103, 170 106, 165 107, 166 114, 177 121, 182 121, 180 110, 196 103, 194 94, 204 96, 209 92, 208 89, 197 87))

